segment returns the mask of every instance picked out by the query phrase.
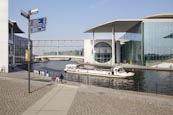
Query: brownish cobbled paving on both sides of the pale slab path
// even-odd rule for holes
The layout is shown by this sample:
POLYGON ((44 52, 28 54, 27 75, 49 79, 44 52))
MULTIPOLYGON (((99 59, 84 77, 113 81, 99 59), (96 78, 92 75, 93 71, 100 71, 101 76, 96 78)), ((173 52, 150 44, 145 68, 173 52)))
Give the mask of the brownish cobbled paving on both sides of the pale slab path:
MULTIPOLYGON (((0 73, 0 115, 22 114, 55 87, 49 77, 31 76, 28 94, 27 72, 0 73)), ((173 115, 173 96, 65 84, 79 87, 68 115, 173 115)))

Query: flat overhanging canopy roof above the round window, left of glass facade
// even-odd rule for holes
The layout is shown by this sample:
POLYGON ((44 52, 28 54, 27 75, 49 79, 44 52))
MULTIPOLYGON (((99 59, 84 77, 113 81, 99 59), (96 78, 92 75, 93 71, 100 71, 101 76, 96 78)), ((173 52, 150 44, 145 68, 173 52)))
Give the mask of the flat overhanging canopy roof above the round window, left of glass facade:
POLYGON ((139 24, 142 19, 120 19, 114 20, 105 24, 101 24, 86 30, 85 32, 112 32, 114 27, 115 32, 127 32, 131 28, 139 24))

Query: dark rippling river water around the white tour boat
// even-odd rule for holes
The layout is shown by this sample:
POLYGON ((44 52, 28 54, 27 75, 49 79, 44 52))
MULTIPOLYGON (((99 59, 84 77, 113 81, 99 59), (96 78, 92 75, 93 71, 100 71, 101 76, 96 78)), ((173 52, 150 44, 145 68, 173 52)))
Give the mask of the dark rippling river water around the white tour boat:
POLYGON ((173 72, 155 70, 126 70, 135 72, 129 79, 112 79, 99 76, 79 75, 64 73, 66 64, 72 61, 48 61, 35 63, 33 70, 48 71, 49 76, 55 77, 56 73, 63 73, 64 79, 113 89, 134 90, 141 92, 173 95, 173 72))

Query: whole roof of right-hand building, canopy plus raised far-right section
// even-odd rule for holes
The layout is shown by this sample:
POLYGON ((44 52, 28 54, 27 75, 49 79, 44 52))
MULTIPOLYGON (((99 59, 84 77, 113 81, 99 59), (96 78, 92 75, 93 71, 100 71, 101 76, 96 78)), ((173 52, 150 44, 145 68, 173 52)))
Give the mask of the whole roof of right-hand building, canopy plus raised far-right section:
MULTIPOLYGON (((152 15, 144 17, 144 19, 173 19, 173 14, 152 15)), ((133 32, 131 29, 135 29, 134 27, 142 21, 143 19, 118 19, 92 27, 85 32, 112 32, 112 27, 114 27, 115 32, 133 32)))

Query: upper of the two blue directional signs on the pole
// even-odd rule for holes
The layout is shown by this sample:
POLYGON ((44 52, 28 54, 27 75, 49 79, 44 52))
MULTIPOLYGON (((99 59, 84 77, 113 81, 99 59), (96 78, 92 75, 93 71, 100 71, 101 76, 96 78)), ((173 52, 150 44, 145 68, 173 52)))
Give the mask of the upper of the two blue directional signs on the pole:
POLYGON ((30 27, 46 25, 46 17, 30 20, 30 27))

